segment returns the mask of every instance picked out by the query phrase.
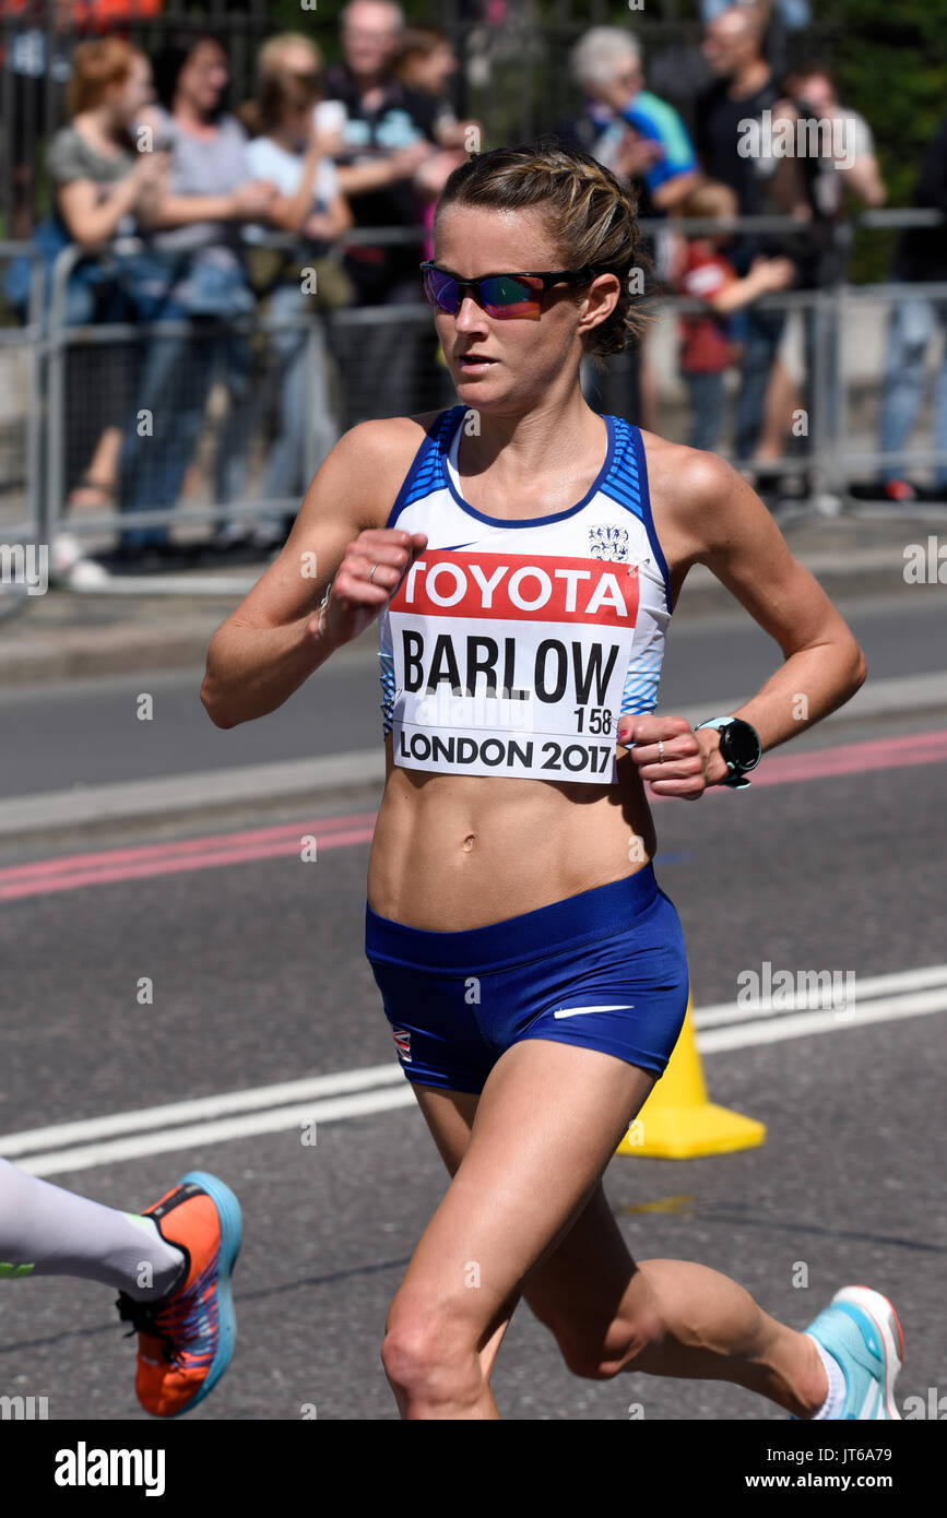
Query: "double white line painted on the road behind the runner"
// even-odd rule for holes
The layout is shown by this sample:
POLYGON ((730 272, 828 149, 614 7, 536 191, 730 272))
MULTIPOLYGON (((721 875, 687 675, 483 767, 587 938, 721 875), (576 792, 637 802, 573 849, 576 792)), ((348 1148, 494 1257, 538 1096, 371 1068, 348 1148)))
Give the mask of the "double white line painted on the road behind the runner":
MULTIPOLYGON (((697 1046, 701 1055, 709 1055, 788 1038, 806 1038, 812 1034, 850 1032, 868 1023, 926 1017, 945 1011, 947 967, 932 965, 924 970, 908 970, 901 975, 867 979, 859 987, 859 1002, 854 1013, 844 1009, 788 1013, 763 1019, 757 1016, 751 1022, 745 1008, 728 1005, 698 1009, 694 1014, 694 1022, 698 1029, 697 1046), (901 996, 865 999, 870 991, 877 993, 894 985, 911 990, 901 996), (701 1031, 703 1019, 716 1013, 727 1013, 730 1026, 701 1031)), ((256 1087, 250 1091, 228 1091, 188 1102, 173 1102, 165 1107, 114 1113, 109 1117, 24 1129, 0 1137, 0 1155, 11 1160, 17 1157, 20 1167, 30 1175, 61 1175, 152 1154, 167 1154, 178 1149, 194 1151, 203 1145, 226 1143, 255 1134, 285 1132, 311 1122, 363 1117, 399 1107, 416 1107, 414 1091, 405 1081, 399 1064, 378 1064, 366 1066, 361 1070, 343 1070, 337 1075, 256 1087), (384 1090, 382 1087, 393 1088, 384 1090), (194 1122, 194 1119, 205 1120, 194 1122), (120 1134, 127 1137, 117 1137, 120 1134), (80 1143, 80 1140, 90 1138, 105 1142, 80 1143), (68 1148, 70 1145, 73 1148, 68 1148)))

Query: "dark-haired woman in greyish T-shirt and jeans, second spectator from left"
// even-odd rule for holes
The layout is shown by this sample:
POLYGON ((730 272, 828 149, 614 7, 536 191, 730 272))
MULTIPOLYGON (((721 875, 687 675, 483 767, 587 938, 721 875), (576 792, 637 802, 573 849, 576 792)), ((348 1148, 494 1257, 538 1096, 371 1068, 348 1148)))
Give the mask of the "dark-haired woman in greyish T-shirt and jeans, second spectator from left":
MULTIPOLYGON (((147 320, 232 320, 253 311, 255 301, 241 260, 241 222, 266 217, 276 187, 252 178, 247 138, 225 109, 226 53, 217 38, 185 35, 155 59, 164 108, 143 118, 156 144, 171 155, 170 184, 153 214, 147 254, 137 279, 147 320)), ((229 411, 217 442, 214 499, 240 493, 249 402, 250 349, 238 329, 212 335, 158 334, 144 352, 140 393, 121 449, 121 509, 129 515, 170 507, 203 424, 216 369, 229 390, 229 411), (144 425, 143 425, 144 416, 144 425)), ((223 543, 240 537, 237 524, 219 528, 223 543)), ((167 550, 167 527, 126 528, 120 559, 143 548, 167 550)))

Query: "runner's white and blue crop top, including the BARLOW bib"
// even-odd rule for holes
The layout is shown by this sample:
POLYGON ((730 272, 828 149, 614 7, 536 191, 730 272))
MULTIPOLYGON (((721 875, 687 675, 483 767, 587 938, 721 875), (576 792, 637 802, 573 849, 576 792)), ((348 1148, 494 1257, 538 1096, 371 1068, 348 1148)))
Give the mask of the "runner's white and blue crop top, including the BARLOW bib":
POLYGON ((466 414, 437 417, 385 522, 428 537, 378 619, 395 764, 615 785, 618 716, 654 709, 671 616, 640 431, 604 416, 583 499, 508 521, 461 496, 466 414))

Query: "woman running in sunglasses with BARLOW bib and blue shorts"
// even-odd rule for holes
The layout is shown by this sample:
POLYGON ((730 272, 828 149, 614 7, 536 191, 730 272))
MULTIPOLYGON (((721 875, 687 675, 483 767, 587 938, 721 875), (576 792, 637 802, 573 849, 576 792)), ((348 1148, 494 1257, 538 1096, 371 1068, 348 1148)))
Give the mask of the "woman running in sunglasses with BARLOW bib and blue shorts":
POLYGON ((716 1271, 636 1263, 601 1186, 687 1002, 643 782, 687 800, 738 783, 865 679, 730 465, 584 402, 583 357, 636 331, 636 243, 634 203, 581 152, 454 170, 423 279, 461 404, 340 439, 216 633, 202 700, 219 727, 272 712, 381 615, 366 952, 452 1176, 387 1318, 401 1416, 498 1418, 490 1372, 525 1298, 578 1375, 721 1378, 797 1418, 897 1418, 883 1296, 847 1287, 797 1333, 716 1271), (648 715, 694 563, 783 651, 738 723, 697 732, 648 715))

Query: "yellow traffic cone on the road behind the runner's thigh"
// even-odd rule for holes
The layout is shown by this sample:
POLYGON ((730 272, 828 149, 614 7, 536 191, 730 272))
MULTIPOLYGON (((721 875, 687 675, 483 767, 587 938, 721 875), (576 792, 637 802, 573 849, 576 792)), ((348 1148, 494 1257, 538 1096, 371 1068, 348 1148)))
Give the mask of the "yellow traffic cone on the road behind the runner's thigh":
POLYGON ((692 1160, 701 1154, 753 1149, 765 1140, 765 1123, 707 1101, 687 997, 684 1025, 668 1069, 615 1152, 692 1160))

